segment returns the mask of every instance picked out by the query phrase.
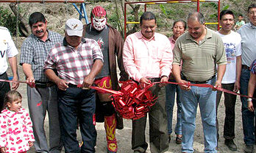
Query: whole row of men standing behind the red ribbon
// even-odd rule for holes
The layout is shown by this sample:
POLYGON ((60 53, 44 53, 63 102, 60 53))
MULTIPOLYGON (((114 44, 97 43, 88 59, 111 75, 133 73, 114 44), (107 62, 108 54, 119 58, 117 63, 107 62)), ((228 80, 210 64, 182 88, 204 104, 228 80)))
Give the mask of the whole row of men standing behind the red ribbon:
MULTIPOLYGON (((193 152, 198 104, 205 152, 217 152, 216 112, 221 92, 189 84, 209 84, 235 92, 240 89, 241 94, 247 95, 249 66, 256 59, 256 4, 249 6, 248 16, 249 24, 242 26, 238 35, 231 30, 234 15, 230 10, 221 12, 221 30, 218 32, 205 26, 202 13, 190 13, 188 32, 176 40, 172 50, 168 38, 155 32, 157 18, 150 12, 141 15, 141 31, 128 35, 124 43, 120 33, 107 25, 107 13, 99 6, 91 11, 91 24, 87 26, 77 19, 68 19, 64 38, 47 29, 47 21, 42 13, 32 13, 29 17, 32 35, 26 38, 21 47, 20 64, 28 84, 27 96, 36 152, 61 152, 63 146, 65 152, 95 152, 93 115, 96 107, 104 118, 107 152, 117 152, 115 129, 122 127, 118 126, 121 120, 115 113, 110 94, 90 89, 94 84, 100 88, 118 90, 116 63, 121 71, 121 80, 130 77, 141 85, 162 82, 149 89, 158 97, 149 111, 151 152, 168 150, 165 82, 168 82, 171 72, 182 89, 182 152, 193 152), (96 99, 99 102, 96 103, 96 99), (49 114, 50 146, 47 145, 43 128, 46 111, 49 114), (81 147, 76 133, 78 122, 83 140, 81 147)), ((7 36, 1 37, 1 46, 4 45, 1 49, 7 52, 13 80, 17 81, 15 55, 18 51, 7 29, 1 31, 7 36)), ((7 63, 6 60, 4 63, 7 63)), ((7 79, 6 67, 1 73, 3 79, 7 79)), ((1 82, 1 85, 4 83, 1 82)), ((1 86, 1 89, 10 90, 7 86, 1 86)), ((18 83, 15 82, 13 89, 16 88, 18 83)), ((233 141, 236 97, 227 93, 224 96, 225 144, 231 150, 236 150, 233 141)), ((255 112, 248 110, 247 99, 241 97, 241 102, 245 152, 253 152, 255 112)), ((134 152, 146 152, 148 148, 145 129, 146 116, 132 121, 134 152)))

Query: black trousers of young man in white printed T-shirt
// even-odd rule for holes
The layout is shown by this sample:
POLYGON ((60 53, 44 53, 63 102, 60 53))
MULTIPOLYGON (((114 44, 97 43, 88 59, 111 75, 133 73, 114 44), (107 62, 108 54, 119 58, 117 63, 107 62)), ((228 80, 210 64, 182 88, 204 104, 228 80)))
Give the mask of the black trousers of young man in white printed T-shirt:
MULTIPOLYGON (((221 84, 222 88, 227 90, 233 90, 235 83, 221 84)), ((222 91, 217 91, 216 98, 216 114, 218 113, 218 104, 221 101, 222 91)), ((225 121, 224 121, 224 138, 234 139, 235 138, 235 102, 236 95, 230 93, 224 93, 224 105, 225 105, 225 121)), ((218 133, 218 118, 216 115, 216 128, 218 133)))

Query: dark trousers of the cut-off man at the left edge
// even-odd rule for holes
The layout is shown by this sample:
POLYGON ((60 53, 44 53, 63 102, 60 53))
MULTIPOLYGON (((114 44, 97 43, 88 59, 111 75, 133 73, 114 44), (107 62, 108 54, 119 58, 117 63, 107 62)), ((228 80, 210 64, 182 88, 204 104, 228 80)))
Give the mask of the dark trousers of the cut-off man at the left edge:
MULTIPOLYGON (((0 74, 0 79, 7 79, 7 74, 4 72, 4 74, 0 74)), ((9 82, 0 82, 0 109, 2 109, 4 105, 4 96, 5 93, 10 91, 10 83, 9 82)))

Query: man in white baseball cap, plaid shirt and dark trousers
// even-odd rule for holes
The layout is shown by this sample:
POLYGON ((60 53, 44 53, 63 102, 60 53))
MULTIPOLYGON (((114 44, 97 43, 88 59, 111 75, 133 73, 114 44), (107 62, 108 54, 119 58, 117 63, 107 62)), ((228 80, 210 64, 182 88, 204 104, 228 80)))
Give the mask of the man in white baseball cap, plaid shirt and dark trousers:
POLYGON ((46 76, 59 88, 58 108, 65 152, 95 152, 95 90, 90 89, 90 85, 102 66, 103 55, 98 43, 82 38, 81 21, 68 19, 63 42, 51 49, 43 67, 46 76), (76 137, 77 118, 84 142, 81 150, 76 137))

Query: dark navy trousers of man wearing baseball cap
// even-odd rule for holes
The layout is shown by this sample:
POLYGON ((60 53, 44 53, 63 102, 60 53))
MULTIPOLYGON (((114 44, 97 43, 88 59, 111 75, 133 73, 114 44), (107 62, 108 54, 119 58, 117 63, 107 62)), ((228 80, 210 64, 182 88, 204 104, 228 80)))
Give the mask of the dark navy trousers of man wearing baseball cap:
POLYGON ((81 88, 67 88, 58 91, 60 113, 60 131, 68 153, 95 152, 96 129, 93 125, 95 112, 95 90, 81 88), (77 118, 79 118, 80 132, 83 144, 79 149, 77 141, 77 118))

